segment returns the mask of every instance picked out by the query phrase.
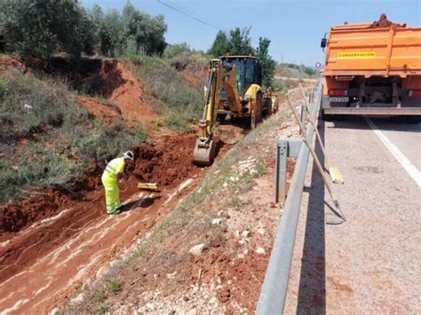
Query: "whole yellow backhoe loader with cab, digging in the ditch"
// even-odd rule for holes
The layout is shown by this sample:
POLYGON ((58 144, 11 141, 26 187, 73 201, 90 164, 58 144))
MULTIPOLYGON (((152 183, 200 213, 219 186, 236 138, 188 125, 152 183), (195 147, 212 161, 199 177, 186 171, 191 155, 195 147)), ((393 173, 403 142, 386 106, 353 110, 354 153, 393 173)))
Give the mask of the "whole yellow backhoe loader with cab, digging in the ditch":
POLYGON ((224 56, 211 59, 208 83, 204 92, 202 135, 196 140, 193 160, 211 165, 216 154, 213 127, 217 120, 231 118, 250 120, 253 129, 262 115, 272 114, 272 99, 261 88, 260 61, 251 56, 224 56))

